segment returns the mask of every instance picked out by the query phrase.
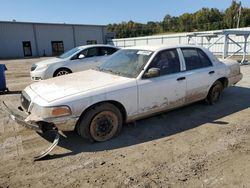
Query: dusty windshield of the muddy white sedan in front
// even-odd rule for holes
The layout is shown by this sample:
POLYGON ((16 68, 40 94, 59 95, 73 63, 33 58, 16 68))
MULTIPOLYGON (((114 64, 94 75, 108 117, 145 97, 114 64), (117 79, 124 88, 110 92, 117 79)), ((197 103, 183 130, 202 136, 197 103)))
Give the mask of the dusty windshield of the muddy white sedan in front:
POLYGON ((147 50, 119 50, 101 64, 99 70, 135 78, 140 74, 152 54, 152 51, 147 50))

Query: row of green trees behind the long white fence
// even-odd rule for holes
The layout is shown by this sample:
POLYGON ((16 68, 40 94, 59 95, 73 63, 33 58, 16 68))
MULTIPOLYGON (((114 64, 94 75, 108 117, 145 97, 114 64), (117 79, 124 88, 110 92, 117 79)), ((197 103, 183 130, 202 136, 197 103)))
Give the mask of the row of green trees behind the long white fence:
POLYGON ((232 1, 225 11, 217 8, 202 8, 195 13, 180 16, 167 14, 161 22, 146 24, 133 21, 109 24, 107 29, 114 32, 116 38, 139 37, 173 32, 208 31, 250 26, 250 8, 241 7, 241 3, 232 1))

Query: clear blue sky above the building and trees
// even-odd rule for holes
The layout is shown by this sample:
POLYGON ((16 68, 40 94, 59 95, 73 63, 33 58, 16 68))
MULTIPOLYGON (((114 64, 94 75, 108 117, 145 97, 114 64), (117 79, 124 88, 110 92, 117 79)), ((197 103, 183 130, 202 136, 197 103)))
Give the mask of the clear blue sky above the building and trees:
MULTIPOLYGON (((232 0, 1 0, 0 21, 102 24, 161 21, 202 7, 225 10, 232 0)), ((250 8, 250 0, 242 0, 250 8)))

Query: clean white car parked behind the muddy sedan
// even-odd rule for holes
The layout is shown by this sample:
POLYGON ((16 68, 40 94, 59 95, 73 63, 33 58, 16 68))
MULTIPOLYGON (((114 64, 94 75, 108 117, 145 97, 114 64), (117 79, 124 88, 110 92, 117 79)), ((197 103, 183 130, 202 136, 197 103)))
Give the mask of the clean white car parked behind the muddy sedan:
POLYGON ((110 45, 86 45, 73 48, 56 58, 35 63, 30 76, 33 81, 45 80, 100 65, 109 55, 119 50, 110 45))

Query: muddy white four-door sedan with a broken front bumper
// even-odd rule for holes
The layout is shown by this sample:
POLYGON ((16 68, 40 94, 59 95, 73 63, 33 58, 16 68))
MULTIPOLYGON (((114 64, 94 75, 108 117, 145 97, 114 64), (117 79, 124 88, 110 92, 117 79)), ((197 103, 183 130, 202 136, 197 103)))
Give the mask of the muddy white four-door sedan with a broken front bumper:
MULTIPOLYGON (((216 103, 242 79, 236 61, 220 61, 197 46, 142 46, 119 50, 95 70, 33 83, 22 91, 23 125, 76 130, 106 141, 122 125, 199 100, 216 103)), ((20 113, 19 113, 20 114, 20 113)))

